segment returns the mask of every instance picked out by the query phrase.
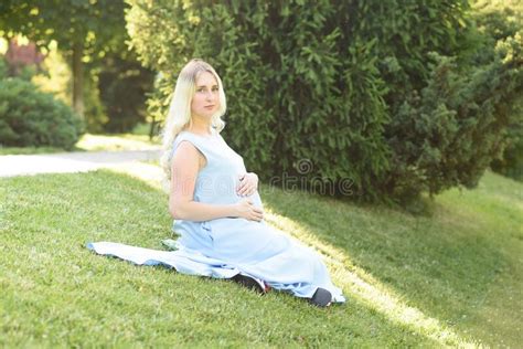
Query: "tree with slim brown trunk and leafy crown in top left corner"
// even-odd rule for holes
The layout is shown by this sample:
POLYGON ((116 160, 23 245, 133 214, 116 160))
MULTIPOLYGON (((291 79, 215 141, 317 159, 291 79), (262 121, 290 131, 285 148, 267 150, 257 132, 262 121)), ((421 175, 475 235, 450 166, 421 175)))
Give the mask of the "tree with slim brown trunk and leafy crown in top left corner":
POLYGON ((0 29, 8 38, 21 33, 45 46, 52 40, 71 60, 73 107, 84 116, 84 62, 100 60, 126 39, 124 1, 40 0, 0 2, 0 29))

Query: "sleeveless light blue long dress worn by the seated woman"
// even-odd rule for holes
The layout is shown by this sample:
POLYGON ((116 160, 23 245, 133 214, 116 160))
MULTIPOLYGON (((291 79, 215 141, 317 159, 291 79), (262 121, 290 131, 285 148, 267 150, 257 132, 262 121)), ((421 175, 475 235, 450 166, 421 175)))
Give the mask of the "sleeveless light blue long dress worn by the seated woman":
MULTIPOLYGON (((243 199, 236 194, 239 174, 246 173, 243 158, 221 135, 203 137, 182 131, 174 140, 173 154, 182 141, 191 142, 206 159, 206 166, 196 178, 194 201, 232 204, 243 199)), ((258 192, 250 199, 262 207, 258 192)), ((110 242, 88 243, 87 247, 136 264, 163 264, 191 275, 231 278, 241 273, 298 297, 310 298, 318 287, 322 287, 332 294, 333 302, 345 302, 341 289, 332 284, 319 254, 264 221, 241 218, 205 222, 177 220, 172 228, 180 235, 177 251, 110 242)))

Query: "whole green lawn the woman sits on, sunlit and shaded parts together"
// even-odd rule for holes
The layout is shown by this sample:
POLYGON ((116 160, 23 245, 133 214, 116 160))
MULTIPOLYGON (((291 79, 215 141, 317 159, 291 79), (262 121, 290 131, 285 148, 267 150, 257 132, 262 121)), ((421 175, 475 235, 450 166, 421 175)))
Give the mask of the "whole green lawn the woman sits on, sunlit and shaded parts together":
POLYGON ((0 347, 517 347, 522 188, 488 172, 413 216, 264 187, 267 221, 322 253, 348 297, 318 309, 85 248, 162 248, 167 195, 150 183, 109 171, 0 179, 0 347))

